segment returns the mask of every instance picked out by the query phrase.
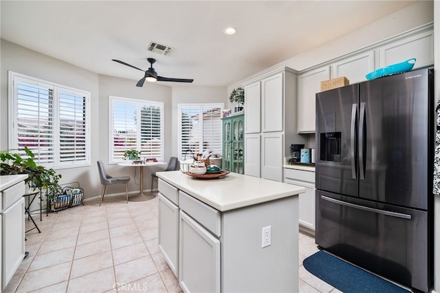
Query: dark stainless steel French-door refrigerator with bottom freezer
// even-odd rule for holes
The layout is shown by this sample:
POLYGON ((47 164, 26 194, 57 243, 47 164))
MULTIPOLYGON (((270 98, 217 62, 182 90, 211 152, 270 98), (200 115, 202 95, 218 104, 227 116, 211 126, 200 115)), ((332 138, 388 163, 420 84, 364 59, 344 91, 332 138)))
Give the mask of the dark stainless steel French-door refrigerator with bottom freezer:
POLYGON ((316 94, 316 243, 361 268, 433 285, 432 69, 316 94))

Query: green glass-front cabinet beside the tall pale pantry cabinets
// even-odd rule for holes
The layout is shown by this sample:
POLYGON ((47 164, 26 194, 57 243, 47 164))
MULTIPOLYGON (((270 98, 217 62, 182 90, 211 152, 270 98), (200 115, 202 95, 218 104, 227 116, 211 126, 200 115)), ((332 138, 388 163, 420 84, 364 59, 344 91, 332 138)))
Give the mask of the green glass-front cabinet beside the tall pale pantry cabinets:
POLYGON ((223 169, 244 174, 244 113, 223 118, 223 169))

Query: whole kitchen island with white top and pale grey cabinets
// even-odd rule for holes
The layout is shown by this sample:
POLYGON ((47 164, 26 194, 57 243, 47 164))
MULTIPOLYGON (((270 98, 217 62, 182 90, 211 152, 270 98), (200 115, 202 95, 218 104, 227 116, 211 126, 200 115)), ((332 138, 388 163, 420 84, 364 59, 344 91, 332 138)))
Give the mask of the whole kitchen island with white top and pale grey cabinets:
POLYGON ((298 292, 298 194, 230 173, 158 172, 159 249, 185 292, 298 292))

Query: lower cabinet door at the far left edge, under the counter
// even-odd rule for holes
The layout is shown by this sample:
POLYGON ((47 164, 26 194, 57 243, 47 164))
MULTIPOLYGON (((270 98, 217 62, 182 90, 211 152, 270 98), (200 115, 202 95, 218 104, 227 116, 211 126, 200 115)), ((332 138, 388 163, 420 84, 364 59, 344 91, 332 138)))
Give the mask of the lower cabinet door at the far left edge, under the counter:
POLYGON ((2 289, 6 287, 25 256, 25 199, 21 198, 2 212, 3 261, 2 289))

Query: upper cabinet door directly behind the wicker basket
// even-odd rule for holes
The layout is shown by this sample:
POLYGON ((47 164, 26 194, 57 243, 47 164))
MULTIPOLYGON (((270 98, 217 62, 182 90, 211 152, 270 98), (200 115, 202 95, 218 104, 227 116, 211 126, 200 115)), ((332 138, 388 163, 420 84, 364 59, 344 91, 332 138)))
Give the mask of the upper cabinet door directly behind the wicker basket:
POLYGON ((345 76, 352 83, 366 80, 366 74, 374 71, 374 51, 357 54, 332 65, 331 78, 345 76))

